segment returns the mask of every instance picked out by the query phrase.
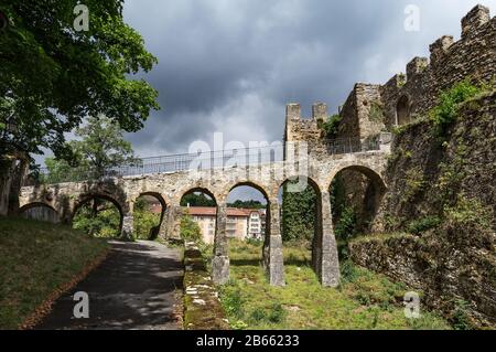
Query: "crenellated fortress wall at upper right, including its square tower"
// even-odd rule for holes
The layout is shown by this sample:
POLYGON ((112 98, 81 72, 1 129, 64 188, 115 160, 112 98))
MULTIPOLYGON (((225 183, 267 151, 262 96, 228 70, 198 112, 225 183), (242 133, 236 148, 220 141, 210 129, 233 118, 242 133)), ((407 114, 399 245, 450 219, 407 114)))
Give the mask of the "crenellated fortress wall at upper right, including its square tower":
POLYGON ((425 116, 438 105, 441 92, 465 78, 474 82, 496 79, 496 18, 477 6, 462 20, 462 38, 443 35, 430 45, 430 57, 414 57, 406 74, 384 85, 356 84, 341 109, 338 137, 370 136, 425 116), (370 114, 373 104, 382 111, 370 114), (406 114, 403 117, 402 115, 406 114))

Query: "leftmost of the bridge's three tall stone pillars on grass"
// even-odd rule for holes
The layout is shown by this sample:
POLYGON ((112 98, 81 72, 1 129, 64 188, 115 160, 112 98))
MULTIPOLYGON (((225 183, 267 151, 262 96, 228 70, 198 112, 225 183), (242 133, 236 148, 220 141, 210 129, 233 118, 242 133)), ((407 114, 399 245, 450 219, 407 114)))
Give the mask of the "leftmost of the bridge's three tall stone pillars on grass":
POLYGON ((216 285, 225 285, 229 280, 229 242, 227 238, 227 205, 217 206, 214 258, 212 259, 212 279, 216 285))

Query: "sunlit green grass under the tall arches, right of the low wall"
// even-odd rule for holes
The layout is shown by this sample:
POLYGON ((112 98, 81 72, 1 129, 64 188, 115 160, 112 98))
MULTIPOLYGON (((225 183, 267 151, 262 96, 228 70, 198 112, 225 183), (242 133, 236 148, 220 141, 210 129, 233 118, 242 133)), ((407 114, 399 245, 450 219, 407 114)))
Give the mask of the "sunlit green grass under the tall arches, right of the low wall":
POLYGON ((260 266, 261 247, 230 243, 229 285, 220 299, 234 329, 450 329, 422 311, 405 317, 408 288, 347 262, 337 289, 323 288, 309 267, 310 252, 284 248, 287 287, 269 286, 260 266))

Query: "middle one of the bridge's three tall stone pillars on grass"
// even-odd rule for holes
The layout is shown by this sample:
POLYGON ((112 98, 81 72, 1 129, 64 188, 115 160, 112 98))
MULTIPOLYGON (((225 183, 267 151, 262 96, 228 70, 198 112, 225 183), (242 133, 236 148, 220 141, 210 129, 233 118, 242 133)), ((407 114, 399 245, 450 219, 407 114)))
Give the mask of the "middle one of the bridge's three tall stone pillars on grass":
POLYGON ((284 263, 282 257, 282 236, 280 206, 277 199, 270 200, 267 224, 266 241, 263 244, 263 266, 269 276, 270 285, 284 286, 284 263))

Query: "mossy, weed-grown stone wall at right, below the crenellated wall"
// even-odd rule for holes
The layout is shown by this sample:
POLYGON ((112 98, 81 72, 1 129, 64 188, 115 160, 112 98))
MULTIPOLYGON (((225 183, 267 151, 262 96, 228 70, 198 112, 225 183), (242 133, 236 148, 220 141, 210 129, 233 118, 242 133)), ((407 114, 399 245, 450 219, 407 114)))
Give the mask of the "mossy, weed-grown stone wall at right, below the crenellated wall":
POLYGON ((463 300, 475 326, 494 327, 496 92, 462 106, 443 145, 433 130, 423 120, 396 137, 386 172, 388 190, 374 230, 402 233, 432 216, 442 223, 416 236, 370 235, 352 244, 352 257, 423 290, 425 303, 449 317, 463 300), (470 201, 466 209, 459 210, 461 200, 470 201), (455 209, 454 220, 466 224, 453 223, 446 207, 455 209), (485 217, 487 225, 472 225, 485 217))

